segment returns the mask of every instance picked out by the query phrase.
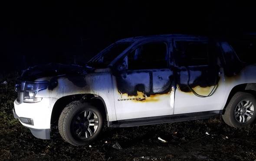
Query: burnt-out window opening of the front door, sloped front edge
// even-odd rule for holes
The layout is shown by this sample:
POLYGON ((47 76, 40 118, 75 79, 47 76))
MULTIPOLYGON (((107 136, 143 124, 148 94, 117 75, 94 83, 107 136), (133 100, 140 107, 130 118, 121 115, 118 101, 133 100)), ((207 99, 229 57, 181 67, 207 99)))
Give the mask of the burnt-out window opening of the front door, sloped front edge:
POLYGON ((167 67, 167 44, 165 42, 144 44, 128 54, 129 70, 167 67))

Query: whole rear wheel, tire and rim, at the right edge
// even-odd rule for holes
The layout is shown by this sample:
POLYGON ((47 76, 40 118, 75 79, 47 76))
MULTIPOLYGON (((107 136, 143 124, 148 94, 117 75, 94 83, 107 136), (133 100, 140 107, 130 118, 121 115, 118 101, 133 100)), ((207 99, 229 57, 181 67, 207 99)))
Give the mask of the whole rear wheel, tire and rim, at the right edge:
POLYGON ((252 94, 237 92, 226 106, 226 111, 222 115, 222 118, 229 126, 243 128, 253 124, 255 121, 255 109, 256 98, 252 94))

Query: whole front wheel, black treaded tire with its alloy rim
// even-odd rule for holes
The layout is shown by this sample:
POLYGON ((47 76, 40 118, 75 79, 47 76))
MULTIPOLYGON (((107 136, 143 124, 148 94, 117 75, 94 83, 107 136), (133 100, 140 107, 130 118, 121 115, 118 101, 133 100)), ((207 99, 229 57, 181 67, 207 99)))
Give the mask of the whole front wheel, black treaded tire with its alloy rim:
POLYGON ((103 123, 102 113, 95 106, 84 101, 73 101, 59 116, 59 134, 72 145, 85 145, 97 138, 102 131, 103 123))

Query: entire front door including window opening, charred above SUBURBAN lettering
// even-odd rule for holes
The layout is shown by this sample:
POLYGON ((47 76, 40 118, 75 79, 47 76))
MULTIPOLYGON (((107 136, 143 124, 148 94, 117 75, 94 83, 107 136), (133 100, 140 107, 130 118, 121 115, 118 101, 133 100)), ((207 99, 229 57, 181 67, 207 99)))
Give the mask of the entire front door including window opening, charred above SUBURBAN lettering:
POLYGON ((174 73, 168 46, 148 42, 125 55, 113 74, 117 120, 173 114, 174 73))

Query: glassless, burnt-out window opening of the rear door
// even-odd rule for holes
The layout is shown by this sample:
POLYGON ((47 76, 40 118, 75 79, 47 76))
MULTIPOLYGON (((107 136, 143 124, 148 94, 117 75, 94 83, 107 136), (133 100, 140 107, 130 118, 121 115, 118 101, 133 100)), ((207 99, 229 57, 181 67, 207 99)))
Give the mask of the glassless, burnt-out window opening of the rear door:
POLYGON ((207 42, 175 42, 176 63, 179 66, 200 66, 209 64, 207 42))

